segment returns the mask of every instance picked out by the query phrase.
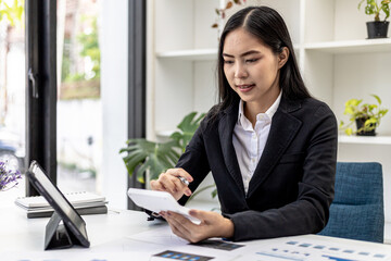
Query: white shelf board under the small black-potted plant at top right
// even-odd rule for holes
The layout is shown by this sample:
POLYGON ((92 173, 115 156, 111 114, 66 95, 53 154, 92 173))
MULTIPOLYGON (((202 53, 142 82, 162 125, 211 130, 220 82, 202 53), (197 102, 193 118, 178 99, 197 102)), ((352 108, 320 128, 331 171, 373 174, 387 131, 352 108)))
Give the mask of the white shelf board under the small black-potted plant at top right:
POLYGON ((328 53, 390 52, 391 39, 382 38, 382 39, 310 42, 304 45, 304 49, 328 52, 328 53))

